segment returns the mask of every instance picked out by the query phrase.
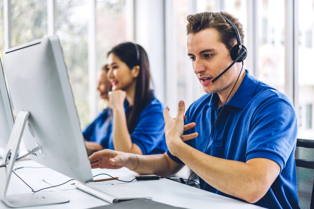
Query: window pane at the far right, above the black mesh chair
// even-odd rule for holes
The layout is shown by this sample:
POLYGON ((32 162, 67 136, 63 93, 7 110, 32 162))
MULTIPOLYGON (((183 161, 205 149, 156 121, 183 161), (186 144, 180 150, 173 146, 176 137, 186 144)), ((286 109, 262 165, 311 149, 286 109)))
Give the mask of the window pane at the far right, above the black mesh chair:
POLYGON ((298 1, 298 137, 314 139, 312 104, 314 103, 314 71, 310 61, 314 57, 314 0, 298 1), (301 35, 302 34, 302 35, 301 35))

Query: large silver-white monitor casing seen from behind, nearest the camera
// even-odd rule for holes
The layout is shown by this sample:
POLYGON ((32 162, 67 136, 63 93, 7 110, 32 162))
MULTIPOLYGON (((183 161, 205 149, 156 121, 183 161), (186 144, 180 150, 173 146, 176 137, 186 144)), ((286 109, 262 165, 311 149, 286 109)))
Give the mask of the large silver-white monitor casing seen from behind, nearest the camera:
POLYGON ((80 182, 92 181, 58 36, 6 50, 3 60, 17 120, 19 112, 30 112, 25 147, 41 148, 30 158, 80 182))

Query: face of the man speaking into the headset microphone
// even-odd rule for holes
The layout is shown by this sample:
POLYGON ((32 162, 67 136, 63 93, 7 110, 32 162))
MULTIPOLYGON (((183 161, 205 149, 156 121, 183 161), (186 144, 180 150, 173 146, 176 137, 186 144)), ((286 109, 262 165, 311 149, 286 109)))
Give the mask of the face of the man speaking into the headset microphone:
POLYGON ((234 83, 238 74, 235 70, 236 65, 233 65, 217 81, 211 82, 233 62, 229 50, 219 41, 216 29, 209 28, 195 34, 188 34, 187 53, 206 93, 223 92, 234 83))

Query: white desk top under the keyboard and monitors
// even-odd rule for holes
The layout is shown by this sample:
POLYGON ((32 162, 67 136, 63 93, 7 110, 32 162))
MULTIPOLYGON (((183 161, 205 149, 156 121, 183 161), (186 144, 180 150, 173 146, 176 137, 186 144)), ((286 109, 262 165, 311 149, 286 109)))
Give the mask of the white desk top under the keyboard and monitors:
MULTIPOLYGON (((31 160, 22 160, 15 163, 15 168, 22 166, 34 166, 42 167, 40 164, 31 160)), ((93 169, 93 175, 100 173, 115 174, 117 170, 107 169, 93 169)), ((48 169, 48 168, 24 168, 15 171, 28 185, 34 190, 39 190, 44 187, 50 186, 42 179, 60 176, 61 174, 48 169)), ((137 176, 138 174, 130 171, 126 168, 119 169, 118 172, 123 173, 123 177, 119 176, 121 180, 124 178, 131 178, 131 176, 137 176)), ((99 176, 100 178, 107 178, 105 175, 99 176)), ((127 179, 129 180, 129 179, 127 179)), ((117 182, 116 180, 113 180, 117 182)), ((63 181, 65 182, 65 181, 63 181)), ((60 182, 63 183, 63 182, 60 182)), ((69 182, 69 184, 72 182, 69 182)), ((122 183, 122 182, 119 182, 122 183)), ((237 201, 225 196, 220 196, 208 191, 203 191, 192 186, 184 185, 168 179, 151 180, 151 181, 134 181, 130 183, 120 184, 129 189, 139 191, 143 194, 153 197, 154 201, 162 202, 172 206, 184 207, 184 208, 261 208, 252 204, 237 201)), ((90 208, 102 205, 108 205, 106 201, 103 201, 95 196, 89 195, 84 191, 73 189, 60 191, 57 188, 47 189, 46 191, 57 191, 60 194, 70 198, 70 202, 48 205, 48 206, 36 206, 26 207, 32 208, 90 208)), ((16 175, 12 174, 10 181, 8 195, 31 192, 30 188, 25 185, 16 175)), ((10 208, 3 201, 0 201, 0 208, 10 208)))

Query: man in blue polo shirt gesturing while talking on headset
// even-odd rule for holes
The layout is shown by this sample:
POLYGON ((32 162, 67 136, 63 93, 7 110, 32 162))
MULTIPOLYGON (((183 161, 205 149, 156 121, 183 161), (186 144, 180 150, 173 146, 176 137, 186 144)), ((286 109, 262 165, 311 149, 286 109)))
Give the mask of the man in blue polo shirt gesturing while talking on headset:
POLYGON ((199 176, 201 189, 267 208, 299 208, 297 125, 289 99, 242 71, 238 62, 211 82, 233 62, 230 50, 237 44, 235 30, 222 15, 243 40, 241 23, 228 13, 187 17, 188 55, 208 94, 189 107, 186 117, 183 101, 176 118, 165 108, 167 152, 137 156, 102 150, 90 156, 92 168, 171 176, 185 164, 199 176))

